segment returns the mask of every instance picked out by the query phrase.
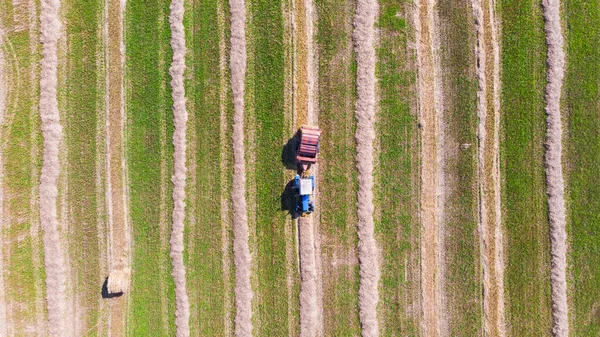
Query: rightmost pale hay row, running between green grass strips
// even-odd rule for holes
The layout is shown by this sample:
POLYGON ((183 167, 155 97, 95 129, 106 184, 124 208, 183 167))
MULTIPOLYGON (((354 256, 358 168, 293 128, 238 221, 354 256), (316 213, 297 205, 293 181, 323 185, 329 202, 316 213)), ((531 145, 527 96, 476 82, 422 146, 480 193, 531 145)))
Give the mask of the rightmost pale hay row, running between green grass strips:
POLYGON ((567 304, 567 233, 562 168, 562 122, 560 99, 565 73, 565 53, 560 19, 560 1, 544 0, 548 75, 546 84, 546 188, 551 242, 552 333, 569 335, 567 304))

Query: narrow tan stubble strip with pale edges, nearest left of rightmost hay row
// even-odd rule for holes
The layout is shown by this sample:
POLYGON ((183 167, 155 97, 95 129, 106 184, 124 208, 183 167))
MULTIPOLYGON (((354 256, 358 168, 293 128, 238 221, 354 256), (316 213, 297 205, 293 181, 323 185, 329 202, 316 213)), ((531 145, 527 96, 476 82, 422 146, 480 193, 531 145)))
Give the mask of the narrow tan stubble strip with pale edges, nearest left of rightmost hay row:
POLYGON ((504 281, 500 222, 499 156, 499 47, 493 1, 472 1, 477 29, 477 79, 479 82, 479 233, 483 270, 484 331, 487 336, 504 336, 504 281))

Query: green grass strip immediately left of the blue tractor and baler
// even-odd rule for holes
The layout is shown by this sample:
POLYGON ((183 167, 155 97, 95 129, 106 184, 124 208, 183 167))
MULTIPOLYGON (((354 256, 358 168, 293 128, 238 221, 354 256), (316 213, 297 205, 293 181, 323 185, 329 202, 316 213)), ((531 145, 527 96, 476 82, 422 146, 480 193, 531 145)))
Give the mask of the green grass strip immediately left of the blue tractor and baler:
MULTIPOLYGON (((286 216, 281 211, 280 195, 284 187, 281 150, 287 137, 284 134, 284 39, 283 15, 280 1, 259 0, 250 4, 252 17, 247 31, 249 63, 247 88, 248 113, 256 134, 252 147, 256 162, 248 180, 256 200, 254 334, 284 336, 289 330, 290 309, 298 315, 298 303, 288 302, 288 274, 286 259, 286 216), (253 111, 253 112, 251 112, 253 111), (253 180, 255 179, 255 180, 253 180), (252 190, 255 182, 255 190, 252 190)), ((247 131, 248 132, 248 128, 247 131)), ((252 206, 252 203, 249 203, 252 206)), ((255 212, 255 213, 254 213, 255 212)), ((288 243, 289 244, 289 243, 288 243)), ((297 280, 297 275, 292 279, 297 280)))

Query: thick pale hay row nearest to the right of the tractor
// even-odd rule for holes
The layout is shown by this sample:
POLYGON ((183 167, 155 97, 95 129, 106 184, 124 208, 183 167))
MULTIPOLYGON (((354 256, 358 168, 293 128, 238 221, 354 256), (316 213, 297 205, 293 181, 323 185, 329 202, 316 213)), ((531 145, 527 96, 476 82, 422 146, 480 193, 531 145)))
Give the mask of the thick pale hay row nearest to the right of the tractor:
POLYGON ((373 140, 375 139, 376 0, 358 0, 354 18, 357 61, 356 167, 358 169, 359 313, 363 336, 378 336, 377 303, 380 277, 373 222, 373 140))

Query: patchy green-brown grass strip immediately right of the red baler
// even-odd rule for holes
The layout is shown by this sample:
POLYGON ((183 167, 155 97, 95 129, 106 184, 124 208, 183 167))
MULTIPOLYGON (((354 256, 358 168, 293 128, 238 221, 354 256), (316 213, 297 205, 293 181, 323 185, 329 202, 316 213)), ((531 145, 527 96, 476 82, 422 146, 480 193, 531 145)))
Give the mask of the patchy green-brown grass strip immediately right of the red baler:
POLYGON ((354 2, 338 0, 317 1, 315 6, 319 18, 316 23, 319 127, 323 131, 317 188, 323 195, 318 207, 321 212, 324 334, 358 335, 356 64, 351 40, 355 6, 354 2))

